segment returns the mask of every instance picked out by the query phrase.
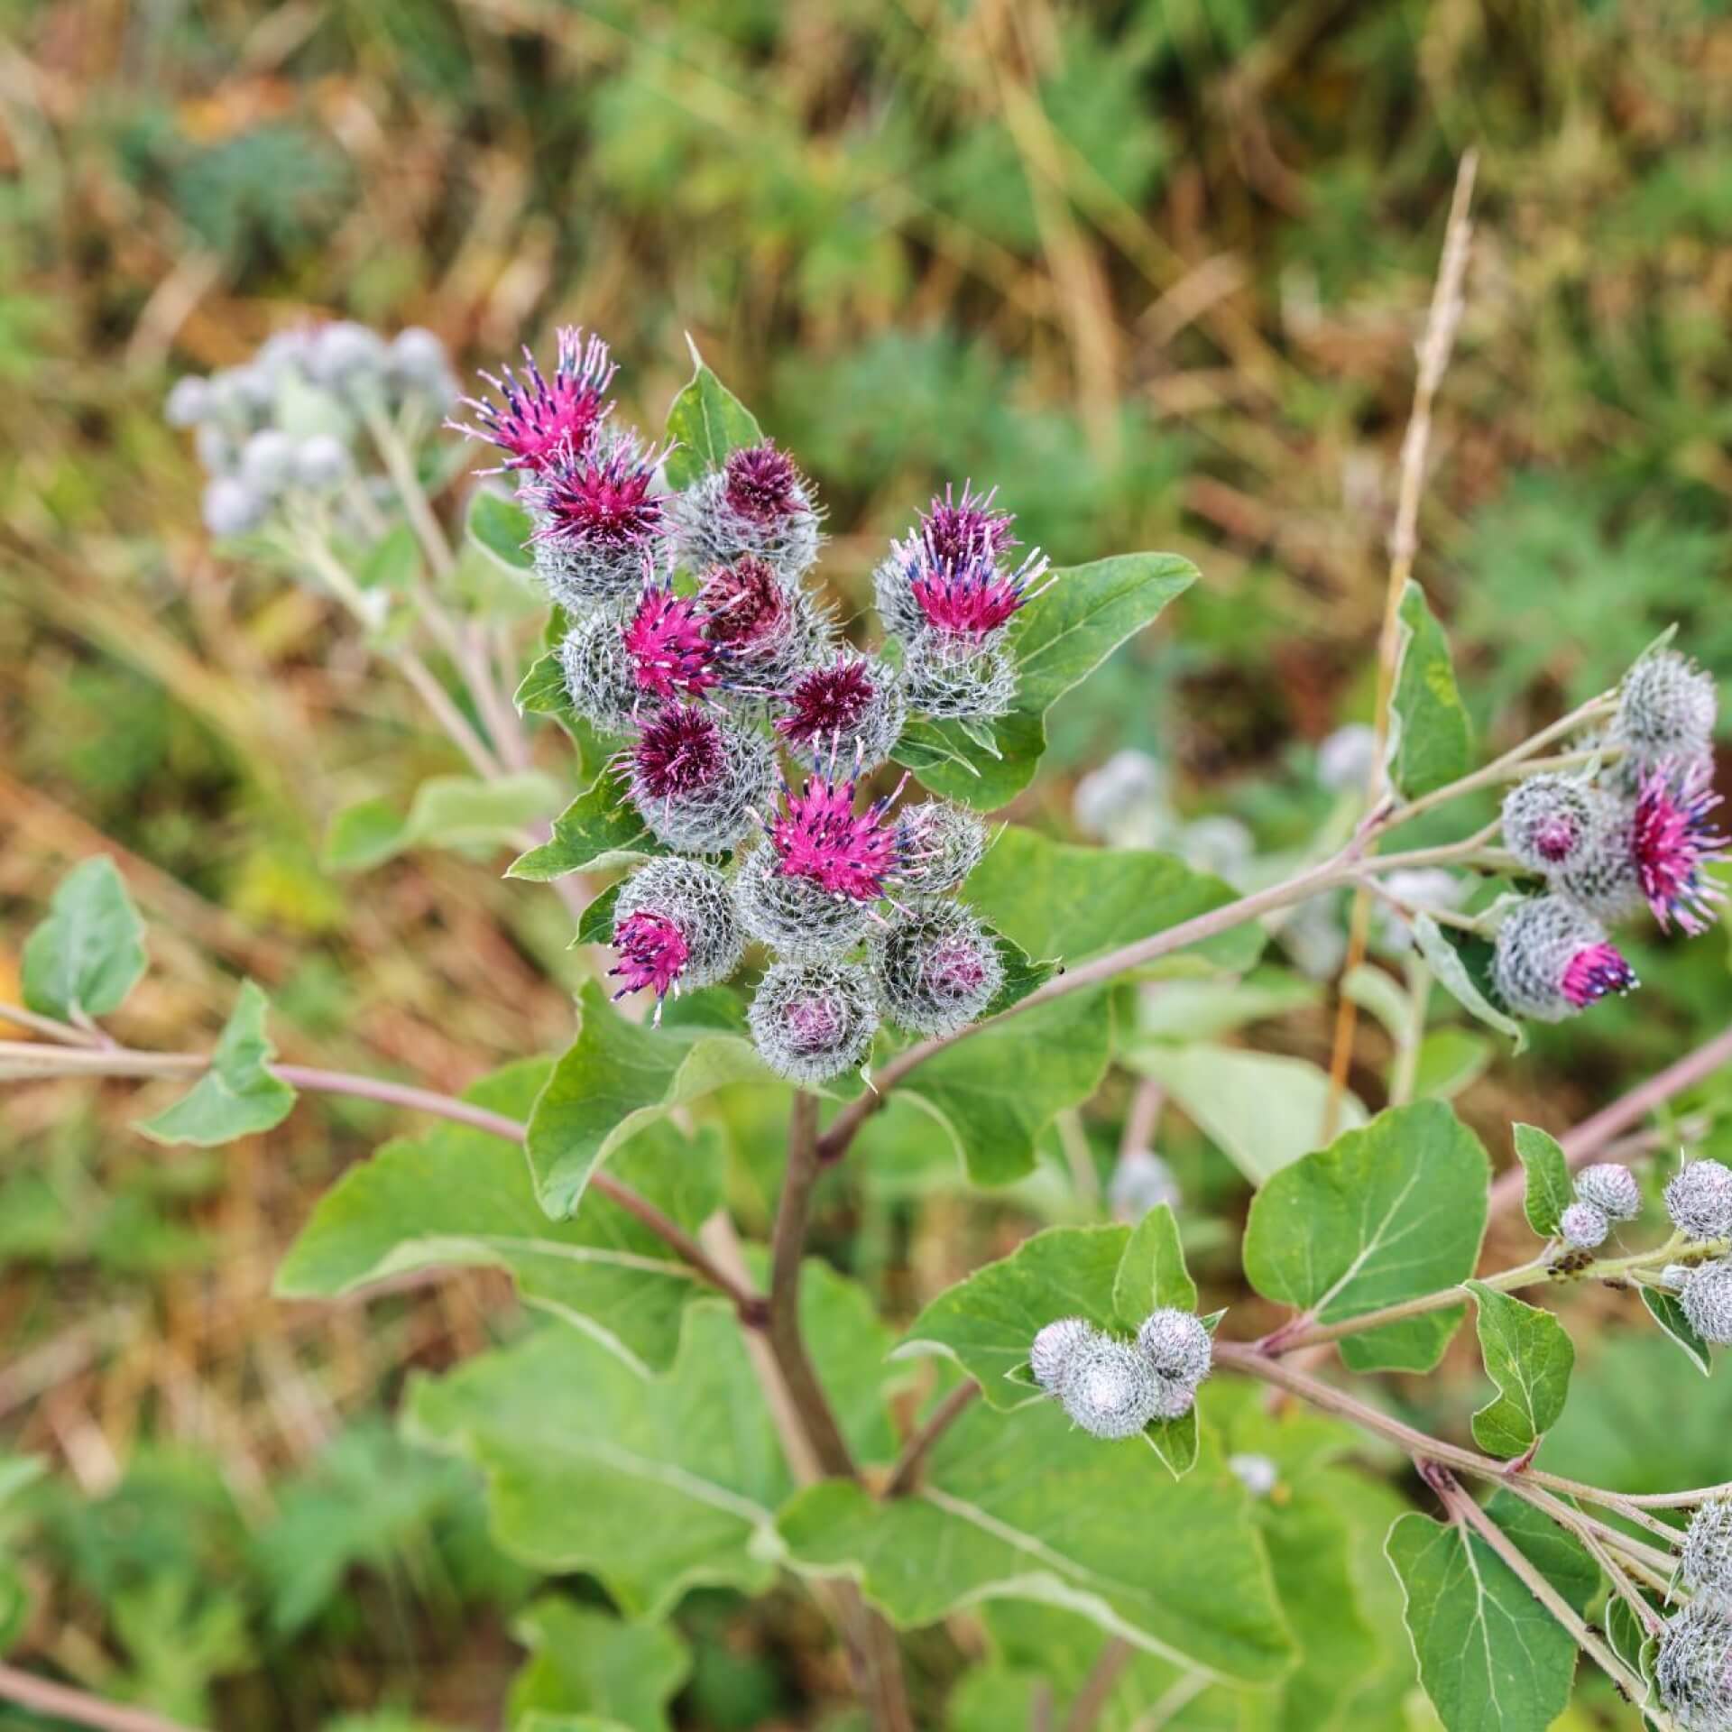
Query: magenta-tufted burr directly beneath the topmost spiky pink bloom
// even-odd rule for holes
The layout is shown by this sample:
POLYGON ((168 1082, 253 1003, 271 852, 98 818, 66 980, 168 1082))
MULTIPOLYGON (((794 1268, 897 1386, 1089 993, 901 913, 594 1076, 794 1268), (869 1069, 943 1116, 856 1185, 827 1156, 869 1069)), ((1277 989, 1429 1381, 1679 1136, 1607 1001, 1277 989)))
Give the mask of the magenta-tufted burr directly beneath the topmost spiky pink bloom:
POLYGON ((565 445, 518 490, 535 518, 535 570, 573 613, 627 601, 669 533, 655 473, 665 452, 636 433, 601 430, 565 445))

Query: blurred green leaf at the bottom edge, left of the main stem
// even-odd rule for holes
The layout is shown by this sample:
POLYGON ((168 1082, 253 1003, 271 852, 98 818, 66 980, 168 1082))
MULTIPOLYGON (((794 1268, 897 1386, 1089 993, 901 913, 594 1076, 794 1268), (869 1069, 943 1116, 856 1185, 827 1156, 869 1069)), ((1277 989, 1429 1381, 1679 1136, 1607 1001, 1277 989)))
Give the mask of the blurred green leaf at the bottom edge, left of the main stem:
POLYGON ((530 1658, 511 1685, 507 1725, 530 1713, 592 1713, 630 1732, 665 1732, 667 1704, 691 1671, 665 1625, 622 1623, 568 1599, 537 1600, 511 1633, 530 1658))

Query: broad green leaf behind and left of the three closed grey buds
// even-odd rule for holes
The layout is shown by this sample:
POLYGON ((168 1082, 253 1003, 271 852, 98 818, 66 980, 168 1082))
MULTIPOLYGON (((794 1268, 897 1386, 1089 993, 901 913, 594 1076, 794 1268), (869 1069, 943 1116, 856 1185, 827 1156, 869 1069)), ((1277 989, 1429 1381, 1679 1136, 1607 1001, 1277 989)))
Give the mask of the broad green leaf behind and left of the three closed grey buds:
POLYGON ((1128 1226, 1036 1233, 939 1294, 914 1318, 895 1358, 940 1354, 980 1386, 991 1406, 1025 1406, 1039 1398, 1025 1372, 1041 1328, 1062 1316, 1081 1316, 1108 1332, 1122 1328, 1115 1290, 1129 1245, 1128 1226))

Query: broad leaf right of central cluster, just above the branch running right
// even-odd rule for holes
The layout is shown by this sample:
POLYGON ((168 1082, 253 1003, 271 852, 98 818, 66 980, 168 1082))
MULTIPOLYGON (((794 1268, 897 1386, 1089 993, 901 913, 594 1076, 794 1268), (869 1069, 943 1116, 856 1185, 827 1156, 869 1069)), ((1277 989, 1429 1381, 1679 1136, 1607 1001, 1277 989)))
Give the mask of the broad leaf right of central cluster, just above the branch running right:
MULTIPOLYGON (((1230 885, 1147 849, 1082 849, 1006 824, 968 876, 968 901, 1031 956, 1067 968, 1134 944, 1235 899, 1230 885)), ((1205 956, 1238 973, 1263 949, 1256 921, 1205 939, 1205 956)))

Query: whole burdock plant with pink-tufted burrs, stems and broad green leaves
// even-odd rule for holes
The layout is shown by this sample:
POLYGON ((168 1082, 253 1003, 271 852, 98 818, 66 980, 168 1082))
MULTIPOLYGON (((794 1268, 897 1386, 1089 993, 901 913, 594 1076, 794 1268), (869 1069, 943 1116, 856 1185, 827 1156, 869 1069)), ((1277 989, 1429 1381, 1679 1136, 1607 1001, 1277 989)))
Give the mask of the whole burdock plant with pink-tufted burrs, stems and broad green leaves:
MULTIPOLYGON (((1458 237, 1450 260, 1427 390, 1458 237)), ((1697 1368, 1732 1341, 1732 1174, 1637 1122, 1706 1062, 1562 1143, 1517 1126, 1522 1171, 1493 1185, 1448 1103, 1464 1065, 1427 1041, 1474 1017, 1490 1034, 1457 1044, 1483 1065, 1531 1022, 1604 1027, 1637 991, 1626 951, 1718 920, 1713 679, 1632 644, 1614 691, 1481 759, 1403 520, 1365 682, 1384 696, 1325 753, 1313 842, 1283 819, 1257 857, 1228 824, 1223 854, 1218 823, 1233 889, 1197 864, 1176 785, 1133 764, 1091 781, 1089 821, 1173 852, 1070 845, 1063 790, 1029 792, 1046 710, 1190 565, 1053 565, 1015 501, 956 478, 868 556, 876 620, 856 618, 821 587, 795 452, 701 362, 653 436, 617 383, 568 329, 551 365, 454 407, 428 333, 327 326, 170 398, 227 551, 346 606, 468 762, 407 816, 338 814, 333 868, 511 847, 509 876, 568 914, 568 1048, 461 1098, 305 1069, 253 986, 208 1057, 126 1046, 106 1022, 145 954, 99 859, 23 949, 36 1037, 0 1041, 0 1076, 187 1089, 152 1100, 161 1141, 268 1129, 317 1091, 450 1121, 353 1166, 279 1290, 507 1270, 539 1325, 407 1396, 417 1436, 481 1470, 499 1541, 636 1623, 804 1585, 876 1729, 914 1723, 902 1630, 932 1701, 973 1668, 951 1690, 970 1725, 1393 1732, 1424 1692, 1448 1732, 1545 1732, 1581 1654, 1632 1725, 1732 1725, 1727 1488, 1597 1486, 1543 1453, 1571 1380, 1607 1375, 1576 1363, 1583 1318, 1621 1302, 1697 1368), (483 447, 461 551, 423 485, 447 412, 483 447), (535 650, 513 637, 527 599, 535 650), (1302 960, 1330 932, 1353 965, 1334 1079, 1289 1029, 1278 1060, 1226 1050, 1315 992, 1273 946, 1302 960), (1360 1003, 1386 1074, 1351 1039, 1360 1003), (1233 1233, 1197 1212, 1195 1160, 1155 1152, 1169 1102, 1186 1147, 1211 1140, 1209 1195, 1230 1162, 1245 1179, 1233 1233), (923 1259, 902 1256, 913 1193, 946 1211, 923 1259), (1486 1259, 1516 1204, 1536 1244, 1486 1259), (1051 1225, 1024 1237, 1031 1218, 1051 1225), (1587 1285, 1602 1302, 1574 1308, 1587 1285), (1469 1318, 1470 1417, 1415 1382, 1469 1318), (1354 1387, 1391 1372, 1398 1401, 1354 1387)))

